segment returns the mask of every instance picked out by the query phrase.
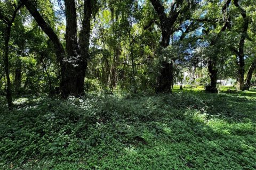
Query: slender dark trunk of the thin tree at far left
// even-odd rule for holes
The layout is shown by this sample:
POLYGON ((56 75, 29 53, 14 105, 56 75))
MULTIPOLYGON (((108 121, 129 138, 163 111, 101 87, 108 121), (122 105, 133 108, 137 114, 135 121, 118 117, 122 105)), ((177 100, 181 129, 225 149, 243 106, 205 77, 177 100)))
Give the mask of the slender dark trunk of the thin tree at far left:
MULTIPOLYGON (((12 23, 11 23, 12 24, 12 23)), ((7 87, 6 87, 6 99, 8 103, 9 109, 12 109, 13 103, 12 103, 12 92, 11 92, 11 80, 10 80, 10 73, 9 73, 9 58, 8 58, 8 53, 9 53, 9 40, 11 36, 11 24, 6 25, 6 32, 5 32, 5 41, 4 41, 4 71, 5 71, 5 76, 7 80, 7 87)))

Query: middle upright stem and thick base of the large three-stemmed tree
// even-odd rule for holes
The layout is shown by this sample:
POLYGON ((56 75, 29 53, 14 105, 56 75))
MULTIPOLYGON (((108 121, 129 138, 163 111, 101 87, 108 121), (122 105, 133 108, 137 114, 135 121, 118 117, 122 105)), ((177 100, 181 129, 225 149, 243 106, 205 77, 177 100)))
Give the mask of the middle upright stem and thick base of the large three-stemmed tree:
POLYGON ((61 94, 81 96, 84 93, 84 62, 77 43, 77 17, 74 0, 65 0, 67 59, 62 66, 61 94))

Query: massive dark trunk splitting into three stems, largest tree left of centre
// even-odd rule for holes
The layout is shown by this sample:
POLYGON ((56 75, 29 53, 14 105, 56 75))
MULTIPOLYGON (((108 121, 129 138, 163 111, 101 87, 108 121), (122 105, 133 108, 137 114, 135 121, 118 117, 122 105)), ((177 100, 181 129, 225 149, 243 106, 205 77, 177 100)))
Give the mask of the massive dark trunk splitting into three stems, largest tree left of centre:
POLYGON ((37 11, 35 5, 29 0, 21 0, 27 7, 31 15, 33 15, 37 24, 42 28, 46 35, 51 39, 57 60, 61 68, 60 91, 63 97, 69 95, 80 96, 84 92, 84 77, 89 58, 90 44, 90 20, 92 14, 92 1, 84 1, 84 18, 82 22, 82 30, 79 37, 79 45, 77 43, 77 19, 75 1, 65 0, 66 7, 66 48, 65 52, 59 37, 53 31, 48 23, 45 22, 41 14, 37 11))

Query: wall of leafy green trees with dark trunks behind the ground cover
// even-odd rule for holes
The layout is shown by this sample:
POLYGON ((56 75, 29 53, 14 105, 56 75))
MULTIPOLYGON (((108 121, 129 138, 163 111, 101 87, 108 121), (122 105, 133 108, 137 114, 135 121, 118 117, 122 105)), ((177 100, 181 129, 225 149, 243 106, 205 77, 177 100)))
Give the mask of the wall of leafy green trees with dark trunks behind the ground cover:
POLYGON ((219 79, 235 79, 237 90, 255 79, 251 0, 0 2, 0 88, 10 108, 14 94, 168 93, 199 70, 210 92, 219 79))

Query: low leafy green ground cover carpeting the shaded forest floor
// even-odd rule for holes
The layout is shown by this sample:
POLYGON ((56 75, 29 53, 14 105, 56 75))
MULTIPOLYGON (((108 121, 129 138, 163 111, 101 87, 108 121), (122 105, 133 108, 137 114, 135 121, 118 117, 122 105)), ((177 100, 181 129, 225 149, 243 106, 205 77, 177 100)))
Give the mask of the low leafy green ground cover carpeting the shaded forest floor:
POLYGON ((16 98, 0 109, 0 169, 256 169, 256 91, 175 88, 16 98))

